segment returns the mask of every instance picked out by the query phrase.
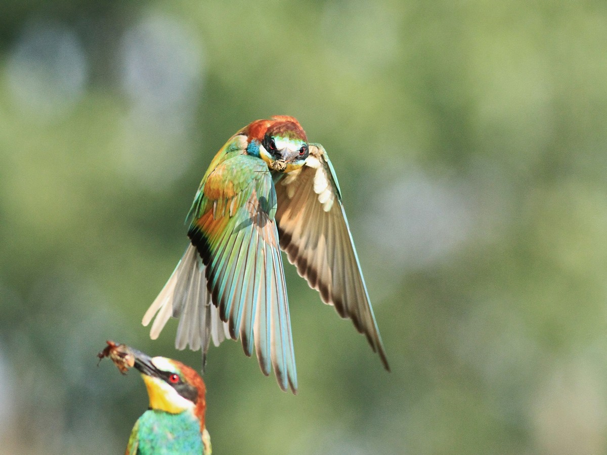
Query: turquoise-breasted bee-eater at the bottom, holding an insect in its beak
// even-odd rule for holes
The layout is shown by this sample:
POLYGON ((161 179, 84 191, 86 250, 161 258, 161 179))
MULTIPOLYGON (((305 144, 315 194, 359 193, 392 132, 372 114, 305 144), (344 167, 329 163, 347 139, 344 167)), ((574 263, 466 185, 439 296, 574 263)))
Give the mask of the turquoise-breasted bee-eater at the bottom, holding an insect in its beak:
POLYGON ((211 455, 205 383, 194 369, 114 342, 99 357, 110 357, 123 373, 135 366, 148 388, 149 409, 135 423, 125 455, 211 455))

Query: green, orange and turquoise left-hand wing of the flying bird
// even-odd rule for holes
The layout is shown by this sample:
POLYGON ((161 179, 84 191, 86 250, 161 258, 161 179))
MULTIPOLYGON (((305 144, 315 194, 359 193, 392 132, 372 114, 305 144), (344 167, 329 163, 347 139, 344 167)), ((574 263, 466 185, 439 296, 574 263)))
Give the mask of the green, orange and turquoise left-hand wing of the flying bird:
POLYGON ((295 392, 297 376, 280 257, 276 192, 262 160, 237 155, 209 174, 188 235, 206 266, 208 290, 232 339, 264 374, 295 392))

